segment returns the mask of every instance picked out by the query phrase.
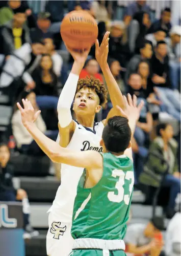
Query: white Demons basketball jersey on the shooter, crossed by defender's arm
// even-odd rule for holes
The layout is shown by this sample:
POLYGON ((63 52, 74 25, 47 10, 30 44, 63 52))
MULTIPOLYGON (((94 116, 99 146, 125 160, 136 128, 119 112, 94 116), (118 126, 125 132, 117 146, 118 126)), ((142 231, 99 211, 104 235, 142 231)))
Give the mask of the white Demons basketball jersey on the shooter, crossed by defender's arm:
MULTIPOLYGON (((94 150, 102 152, 100 140, 104 124, 94 123, 93 129, 84 127, 76 122, 75 131, 67 148, 74 151, 94 150)), ((49 211, 64 222, 72 221, 73 204, 76 196, 77 184, 83 174, 84 168, 74 167, 67 164, 61 166, 61 185, 59 186, 56 198, 49 211)))

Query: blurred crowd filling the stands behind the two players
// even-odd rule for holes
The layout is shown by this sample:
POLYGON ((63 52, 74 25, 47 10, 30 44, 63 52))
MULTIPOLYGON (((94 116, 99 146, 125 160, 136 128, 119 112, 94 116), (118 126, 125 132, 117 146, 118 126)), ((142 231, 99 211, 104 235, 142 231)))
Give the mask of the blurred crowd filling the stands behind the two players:
MULTIPOLYGON (((22 201, 25 234, 39 239, 43 251, 43 215, 60 184, 60 165, 50 163, 23 127, 16 102, 28 98, 40 109, 37 126, 56 140, 58 98, 73 63, 60 25, 66 13, 81 9, 97 20, 99 43, 111 32, 108 63, 122 93, 145 102, 132 141, 135 190, 126 250, 148 253, 159 229, 166 244, 154 255, 180 255, 180 1, 0 2, 0 201, 22 201)), ((106 86, 94 46, 80 78, 87 76, 106 86)), ((97 121, 111 108, 109 98, 97 121)), ((27 255, 45 255, 36 254, 33 242, 27 246, 27 255)))

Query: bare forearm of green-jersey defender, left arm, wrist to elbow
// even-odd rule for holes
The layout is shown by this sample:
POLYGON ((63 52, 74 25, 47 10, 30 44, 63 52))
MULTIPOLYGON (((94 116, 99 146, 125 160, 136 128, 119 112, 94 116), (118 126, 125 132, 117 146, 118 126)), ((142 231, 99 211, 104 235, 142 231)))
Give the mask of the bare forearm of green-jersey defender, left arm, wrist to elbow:
POLYGON ((41 150, 52 160, 54 161, 53 152, 60 152, 62 147, 55 141, 46 137, 33 123, 27 126, 28 132, 32 135, 33 139, 39 145, 41 150))

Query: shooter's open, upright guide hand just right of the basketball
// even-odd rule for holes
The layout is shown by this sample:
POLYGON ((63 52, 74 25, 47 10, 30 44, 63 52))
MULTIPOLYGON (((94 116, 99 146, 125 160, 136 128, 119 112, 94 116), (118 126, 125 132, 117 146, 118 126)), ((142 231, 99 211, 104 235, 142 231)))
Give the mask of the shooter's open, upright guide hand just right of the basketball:
POLYGON ((95 58, 101 69, 107 65, 109 52, 109 34, 109 31, 105 33, 100 46, 98 40, 95 41, 95 58))

